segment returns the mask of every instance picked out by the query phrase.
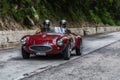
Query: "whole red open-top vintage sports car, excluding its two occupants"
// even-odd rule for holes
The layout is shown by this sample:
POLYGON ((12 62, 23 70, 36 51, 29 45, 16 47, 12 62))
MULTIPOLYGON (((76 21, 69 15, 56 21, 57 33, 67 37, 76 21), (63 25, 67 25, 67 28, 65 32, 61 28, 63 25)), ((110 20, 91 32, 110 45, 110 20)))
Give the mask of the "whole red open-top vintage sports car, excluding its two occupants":
POLYGON ((62 54, 63 58, 68 60, 74 49, 76 55, 81 55, 82 38, 76 34, 39 33, 24 36, 21 39, 21 44, 24 59, 30 58, 30 54, 62 54))

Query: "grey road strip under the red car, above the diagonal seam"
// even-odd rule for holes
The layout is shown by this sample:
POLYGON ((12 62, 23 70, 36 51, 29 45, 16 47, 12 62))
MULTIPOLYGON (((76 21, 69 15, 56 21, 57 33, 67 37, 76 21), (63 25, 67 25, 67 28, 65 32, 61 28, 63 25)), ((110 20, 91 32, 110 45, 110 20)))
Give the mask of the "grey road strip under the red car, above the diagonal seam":
MULTIPOLYGON (((120 40, 120 32, 100 34, 83 38, 83 56, 120 40)), ((34 57, 24 60, 20 49, 0 51, 0 80, 18 80, 39 73, 51 67, 70 62, 79 56, 72 56, 69 61, 61 57, 34 57)))

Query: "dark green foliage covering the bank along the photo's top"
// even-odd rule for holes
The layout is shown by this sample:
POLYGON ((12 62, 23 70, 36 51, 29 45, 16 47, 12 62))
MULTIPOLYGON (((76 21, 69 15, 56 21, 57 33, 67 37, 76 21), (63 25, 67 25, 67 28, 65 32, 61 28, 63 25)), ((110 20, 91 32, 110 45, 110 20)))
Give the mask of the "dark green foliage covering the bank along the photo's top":
POLYGON ((0 15, 23 21, 67 19, 119 25, 120 0, 0 0, 0 15))

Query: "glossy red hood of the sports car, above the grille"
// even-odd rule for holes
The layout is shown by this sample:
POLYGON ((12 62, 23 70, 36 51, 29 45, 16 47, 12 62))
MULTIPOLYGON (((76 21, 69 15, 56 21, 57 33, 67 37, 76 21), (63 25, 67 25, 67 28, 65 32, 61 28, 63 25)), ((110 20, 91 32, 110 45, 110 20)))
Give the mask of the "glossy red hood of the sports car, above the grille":
POLYGON ((29 43, 31 45, 54 44, 63 34, 58 33, 41 33, 30 36, 29 43))

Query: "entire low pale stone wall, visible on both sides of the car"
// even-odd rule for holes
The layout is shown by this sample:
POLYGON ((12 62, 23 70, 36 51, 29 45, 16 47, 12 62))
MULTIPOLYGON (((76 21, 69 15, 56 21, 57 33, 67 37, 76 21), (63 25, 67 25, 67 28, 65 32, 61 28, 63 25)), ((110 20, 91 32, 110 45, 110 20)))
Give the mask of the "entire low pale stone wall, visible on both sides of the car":
MULTIPOLYGON (((81 36, 93 35, 99 33, 108 33, 120 31, 120 27, 84 27, 84 28, 70 28, 74 33, 81 36)), ((8 49, 20 47, 20 39, 24 35, 34 34, 36 30, 27 31, 0 31, 0 49, 8 49)))

